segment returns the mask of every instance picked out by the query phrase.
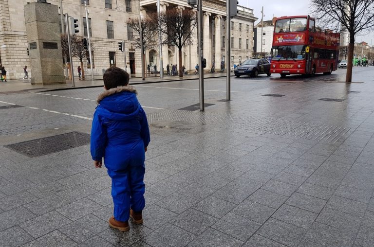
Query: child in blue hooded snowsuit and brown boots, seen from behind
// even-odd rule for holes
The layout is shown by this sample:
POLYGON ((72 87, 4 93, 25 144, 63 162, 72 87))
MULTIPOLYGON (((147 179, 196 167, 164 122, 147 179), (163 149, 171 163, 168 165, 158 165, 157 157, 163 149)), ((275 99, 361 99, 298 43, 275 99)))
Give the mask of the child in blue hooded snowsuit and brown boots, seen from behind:
POLYGON ((102 158, 112 178, 114 216, 112 228, 128 231, 129 217, 142 224, 145 206, 145 152, 150 142, 146 113, 129 86, 129 74, 111 67, 104 74, 104 89, 98 98, 91 130, 91 155, 95 167, 102 158))

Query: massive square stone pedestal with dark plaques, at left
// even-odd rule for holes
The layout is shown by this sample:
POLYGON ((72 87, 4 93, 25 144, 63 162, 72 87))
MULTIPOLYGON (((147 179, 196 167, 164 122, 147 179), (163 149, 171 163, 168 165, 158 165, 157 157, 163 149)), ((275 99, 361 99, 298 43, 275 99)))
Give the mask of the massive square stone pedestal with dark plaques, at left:
POLYGON ((24 5, 31 84, 65 84, 58 6, 46 2, 24 5))

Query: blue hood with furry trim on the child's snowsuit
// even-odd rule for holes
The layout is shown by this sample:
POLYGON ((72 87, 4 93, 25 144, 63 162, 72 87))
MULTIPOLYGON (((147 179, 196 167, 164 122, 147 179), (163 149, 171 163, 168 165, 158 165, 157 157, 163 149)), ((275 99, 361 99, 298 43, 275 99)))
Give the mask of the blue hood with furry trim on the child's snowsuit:
POLYGON ((139 116, 141 106, 132 86, 106 90, 97 98, 96 111, 101 116, 116 121, 131 120, 139 116))

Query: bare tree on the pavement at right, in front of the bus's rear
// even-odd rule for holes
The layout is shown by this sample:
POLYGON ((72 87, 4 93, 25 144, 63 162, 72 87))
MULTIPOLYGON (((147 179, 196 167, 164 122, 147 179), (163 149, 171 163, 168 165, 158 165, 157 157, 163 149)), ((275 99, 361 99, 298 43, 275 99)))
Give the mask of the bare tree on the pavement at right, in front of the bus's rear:
POLYGON ((348 67, 345 81, 352 82, 352 60, 355 35, 369 32, 374 26, 374 0, 311 0, 314 14, 330 29, 347 31, 348 67))

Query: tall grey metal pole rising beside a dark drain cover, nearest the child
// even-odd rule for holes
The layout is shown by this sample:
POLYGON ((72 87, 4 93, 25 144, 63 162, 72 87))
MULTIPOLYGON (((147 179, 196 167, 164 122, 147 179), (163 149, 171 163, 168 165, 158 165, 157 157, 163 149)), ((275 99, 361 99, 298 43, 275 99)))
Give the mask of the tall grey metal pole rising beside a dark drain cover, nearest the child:
POLYGON ((199 46, 199 96, 200 96, 200 111, 204 111, 204 68, 203 68, 203 0, 198 0, 197 3, 197 34, 199 46))

